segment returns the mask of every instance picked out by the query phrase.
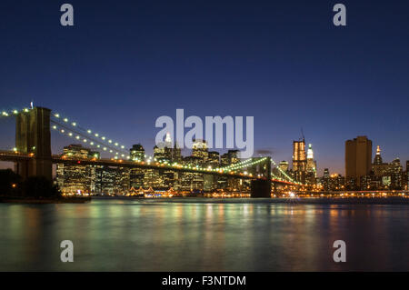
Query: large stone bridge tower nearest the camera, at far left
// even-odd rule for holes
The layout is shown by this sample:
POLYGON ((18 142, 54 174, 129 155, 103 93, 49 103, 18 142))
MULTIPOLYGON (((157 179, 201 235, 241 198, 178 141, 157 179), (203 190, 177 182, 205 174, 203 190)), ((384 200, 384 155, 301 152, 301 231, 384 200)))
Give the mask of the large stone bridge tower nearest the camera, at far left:
POLYGON ((15 116, 15 147, 18 152, 34 155, 28 161, 15 164, 15 172, 23 178, 52 179, 50 114, 50 109, 34 107, 15 116))

